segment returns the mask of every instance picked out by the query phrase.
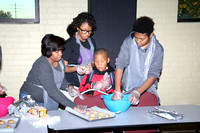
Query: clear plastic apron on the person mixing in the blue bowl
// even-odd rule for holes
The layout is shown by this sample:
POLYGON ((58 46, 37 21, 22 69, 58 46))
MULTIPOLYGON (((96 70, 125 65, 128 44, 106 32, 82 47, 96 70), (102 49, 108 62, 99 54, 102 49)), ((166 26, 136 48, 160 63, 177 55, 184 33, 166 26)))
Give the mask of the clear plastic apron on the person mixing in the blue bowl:
MULTIPOLYGON (((125 69, 122 79, 122 87, 124 91, 136 90, 145 82, 154 55, 155 46, 156 39, 154 35, 151 38, 147 50, 138 47, 135 39, 132 39, 129 49, 129 65, 125 69)), ((153 84, 147 91, 158 97, 156 85, 153 84)))

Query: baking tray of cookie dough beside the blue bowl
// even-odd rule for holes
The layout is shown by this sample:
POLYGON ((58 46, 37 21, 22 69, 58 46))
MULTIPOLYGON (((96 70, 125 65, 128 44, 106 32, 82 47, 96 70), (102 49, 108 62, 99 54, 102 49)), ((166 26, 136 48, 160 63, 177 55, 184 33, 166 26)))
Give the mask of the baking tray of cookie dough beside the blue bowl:
POLYGON ((110 112, 106 109, 99 108, 97 106, 88 108, 88 110, 90 110, 90 113, 87 114, 81 114, 69 107, 66 107, 65 110, 87 121, 105 120, 115 117, 115 113, 110 112))

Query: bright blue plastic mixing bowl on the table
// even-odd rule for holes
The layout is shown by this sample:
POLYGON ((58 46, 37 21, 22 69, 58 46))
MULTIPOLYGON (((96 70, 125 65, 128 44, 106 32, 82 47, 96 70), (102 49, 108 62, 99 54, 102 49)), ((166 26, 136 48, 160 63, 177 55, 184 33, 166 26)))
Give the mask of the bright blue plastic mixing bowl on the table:
POLYGON ((130 94, 123 95, 121 100, 112 100, 112 95, 101 95, 101 98, 104 101, 104 104, 110 110, 111 112, 120 113, 125 112, 131 105, 131 103, 128 100, 128 97, 130 94))

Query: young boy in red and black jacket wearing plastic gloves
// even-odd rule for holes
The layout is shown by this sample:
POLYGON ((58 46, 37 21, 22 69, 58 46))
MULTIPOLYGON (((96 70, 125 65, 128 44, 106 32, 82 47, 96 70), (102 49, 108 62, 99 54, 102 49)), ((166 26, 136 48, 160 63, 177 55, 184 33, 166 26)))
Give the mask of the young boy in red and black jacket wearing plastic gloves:
MULTIPOLYGON (((88 89, 97 89, 108 94, 114 92, 114 69, 109 65, 110 58, 108 51, 104 48, 99 48, 94 53, 93 71, 90 74, 85 74, 81 80, 79 91, 83 92, 88 89)), ((98 95, 98 91, 88 91, 85 94, 90 96, 98 95)))

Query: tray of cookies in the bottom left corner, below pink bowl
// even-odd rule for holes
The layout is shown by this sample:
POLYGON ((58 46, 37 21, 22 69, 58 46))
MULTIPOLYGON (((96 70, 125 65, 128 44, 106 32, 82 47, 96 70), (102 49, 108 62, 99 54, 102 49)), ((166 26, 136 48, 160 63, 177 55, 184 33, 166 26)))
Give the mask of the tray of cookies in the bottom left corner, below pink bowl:
POLYGON ((6 115, 0 118, 0 133, 13 132, 20 122, 19 118, 6 115))

